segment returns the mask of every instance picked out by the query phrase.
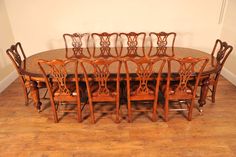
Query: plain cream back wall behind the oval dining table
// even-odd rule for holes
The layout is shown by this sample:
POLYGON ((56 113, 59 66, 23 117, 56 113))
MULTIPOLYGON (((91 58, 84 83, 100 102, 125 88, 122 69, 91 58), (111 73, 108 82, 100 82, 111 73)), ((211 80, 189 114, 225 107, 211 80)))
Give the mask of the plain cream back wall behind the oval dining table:
POLYGON ((5 0, 26 55, 64 47, 63 33, 174 31, 176 46, 211 51, 222 0, 5 0))

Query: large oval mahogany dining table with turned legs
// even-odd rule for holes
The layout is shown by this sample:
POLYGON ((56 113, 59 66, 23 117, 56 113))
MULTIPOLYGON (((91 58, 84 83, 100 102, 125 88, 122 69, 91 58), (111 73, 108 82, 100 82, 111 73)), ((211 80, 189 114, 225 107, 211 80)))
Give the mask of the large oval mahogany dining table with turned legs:
MULTIPOLYGON (((92 51, 92 49, 86 49, 88 52, 92 51)), ((115 49, 111 49, 111 51, 114 51, 115 49)), ((99 51, 99 48, 97 48, 96 51, 99 51)), ((123 51, 125 49, 123 48, 123 51)), ((137 51, 142 51, 142 48, 139 48, 137 51)), ((167 52, 172 51, 171 48, 167 48, 167 52)), ((123 53, 123 52, 122 52, 123 53)), ((200 91, 200 97, 198 100, 199 103, 199 109, 200 107, 203 107, 206 104, 206 97, 207 97, 207 83, 210 75, 216 71, 216 59, 215 57, 211 56, 210 54, 199 51, 196 49, 191 48, 183 48, 183 47, 175 47, 174 48, 174 56, 177 58, 184 58, 184 57, 206 57, 209 59, 209 62, 207 63, 203 73, 202 73, 202 79, 201 79, 201 91, 200 91)), ((45 82, 44 77, 42 75, 42 72, 40 71, 40 68, 38 66, 38 60, 44 59, 44 60, 54 60, 54 59, 62 59, 65 60, 66 58, 66 51, 65 49, 53 49, 48 50, 44 52, 40 52, 37 54, 34 54, 32 56, 29 56, 24 61, 24 68, 22 70, 22 74, 25 75, 27 81, 30 82, 30 91, 31 91, 31 97, 34 101, 34 104, 38 111, 40 111, 41 108, 41 102, 39 97, 39 89, 38 89, 38 83, 45 82)), ((164 68, 165 69, 165 68, 164 68)), ((166 73, 166 70, 163 70, 163 73, 166 73)), ((123 71, 124 73, 124 71, 123 71)), ((121 71, 122 74, 122 71, 121 71)), ((200 109, 201 111, 201 109, 200 109)))

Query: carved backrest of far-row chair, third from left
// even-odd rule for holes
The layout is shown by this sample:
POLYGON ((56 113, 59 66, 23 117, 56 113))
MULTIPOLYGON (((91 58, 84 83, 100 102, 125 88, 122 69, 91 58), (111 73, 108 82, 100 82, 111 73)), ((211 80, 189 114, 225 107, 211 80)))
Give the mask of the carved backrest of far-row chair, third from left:
POLYGON ((124 57, 142 57, 145 56, 144 52, 144 43, 146 38, 146 33, 140 32, 130 32, 130 33, 120 33, 121 38, 121 53, 124 57), (127 51, 123 52, 124 47, 126 47, 127 51), (138 54, 138 47, 142 48, 142 54, 138 54))

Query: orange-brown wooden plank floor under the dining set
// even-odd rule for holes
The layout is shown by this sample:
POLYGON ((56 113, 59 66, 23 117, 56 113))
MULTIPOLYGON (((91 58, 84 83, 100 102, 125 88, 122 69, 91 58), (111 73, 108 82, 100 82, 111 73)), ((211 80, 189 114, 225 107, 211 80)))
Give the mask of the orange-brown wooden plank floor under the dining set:
POLYGON ((97 114, 90 124, 88 112, 83 123, 74 114, 53 122, 48 100, 37 113, 33 104, 24 105, 18 81, 0 94, 0 156, 236 156, 236 87, 224 78, 218 84, 216 103, 210 101, 203 115, 195 109, 193 120, 172 113, 169 122, 151 122, 147 114, 113 122, 114 115, 97 114))

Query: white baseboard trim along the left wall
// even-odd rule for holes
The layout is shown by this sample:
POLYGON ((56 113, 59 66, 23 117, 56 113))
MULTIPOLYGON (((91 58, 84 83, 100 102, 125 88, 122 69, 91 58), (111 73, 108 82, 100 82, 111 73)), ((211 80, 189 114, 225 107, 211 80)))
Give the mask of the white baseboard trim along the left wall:
POLYGON ((16 80, 18 74, 16 71, 11 72, 2 81, 0 81, 0 93, 4 91, 13 81, 16 80))

